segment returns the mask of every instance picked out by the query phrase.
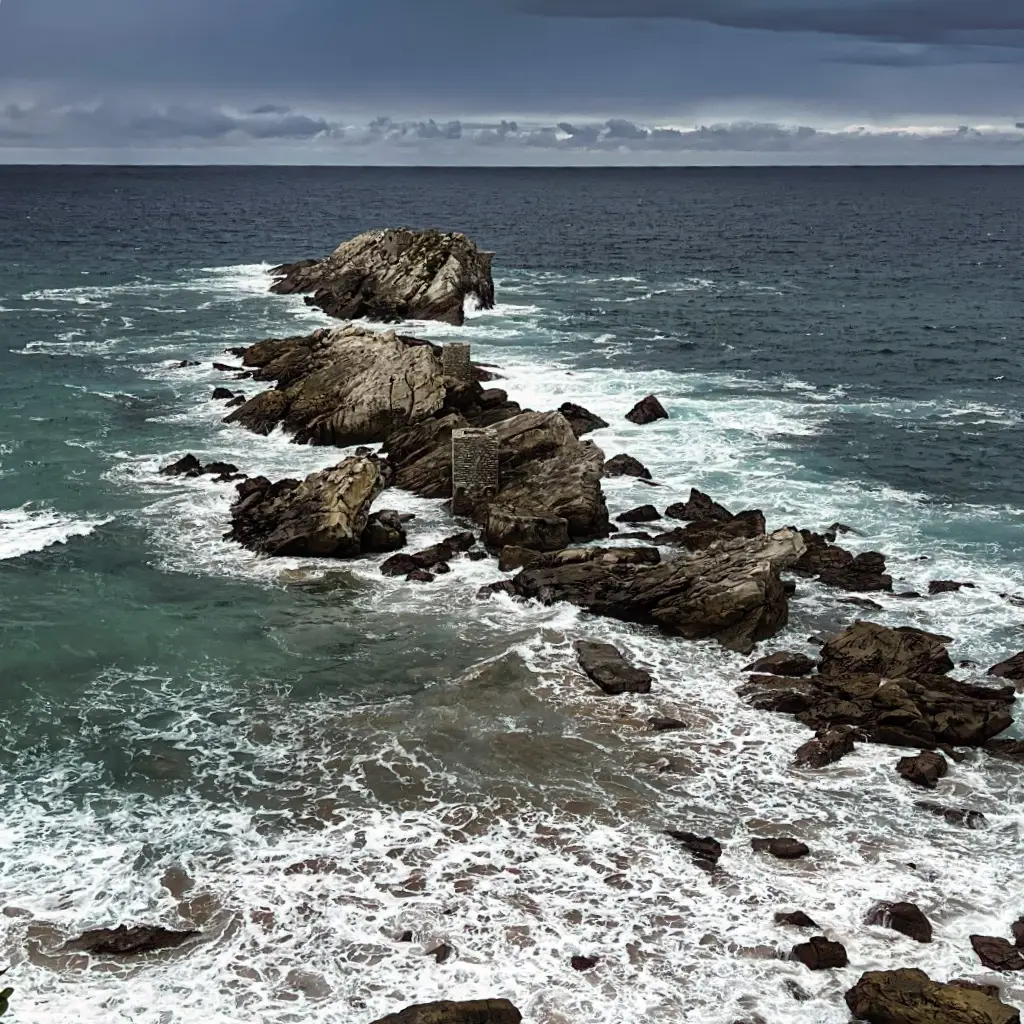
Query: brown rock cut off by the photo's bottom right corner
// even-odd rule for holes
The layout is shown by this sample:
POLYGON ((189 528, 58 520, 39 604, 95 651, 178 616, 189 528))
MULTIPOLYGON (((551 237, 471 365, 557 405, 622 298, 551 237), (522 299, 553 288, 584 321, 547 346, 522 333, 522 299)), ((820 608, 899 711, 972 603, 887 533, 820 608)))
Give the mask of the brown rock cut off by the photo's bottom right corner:
POLYGON ((997 998, 932 981, 924 971, 868 971, 846 993, 857 1020, 868 1024, 1020 1024, 1020 1014, 997 998))

